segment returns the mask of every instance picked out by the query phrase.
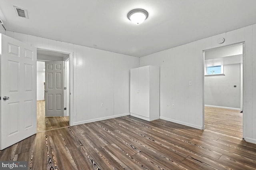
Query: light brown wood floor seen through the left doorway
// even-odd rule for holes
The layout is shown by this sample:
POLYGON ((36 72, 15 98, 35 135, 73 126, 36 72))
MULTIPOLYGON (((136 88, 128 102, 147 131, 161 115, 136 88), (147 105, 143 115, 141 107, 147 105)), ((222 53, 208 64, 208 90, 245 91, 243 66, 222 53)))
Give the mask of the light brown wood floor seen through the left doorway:
POLYGON ((37 101, 37 132, 69 126, 69 117, 45 117, 45 101, 37 101))

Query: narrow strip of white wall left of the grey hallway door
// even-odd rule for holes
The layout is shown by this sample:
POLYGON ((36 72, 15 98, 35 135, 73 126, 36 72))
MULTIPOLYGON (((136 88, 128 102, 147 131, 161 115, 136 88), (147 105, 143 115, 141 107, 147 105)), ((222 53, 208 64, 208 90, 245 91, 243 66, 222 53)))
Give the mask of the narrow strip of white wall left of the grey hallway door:
POLYGON ((44 62, 37 61, 37 72, 36 72, 36 98, 37 100, 44 100, 44 82, 45 82, 45 71, 44 62))

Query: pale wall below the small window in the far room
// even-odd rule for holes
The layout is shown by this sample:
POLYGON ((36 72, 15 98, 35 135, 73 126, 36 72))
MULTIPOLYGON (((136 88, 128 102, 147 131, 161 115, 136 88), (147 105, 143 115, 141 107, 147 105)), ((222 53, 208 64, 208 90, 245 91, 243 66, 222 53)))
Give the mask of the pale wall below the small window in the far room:
POLYGON ((240 63, 224 65, 224 74, 204 78, 204 104, 240 109, 240 63))

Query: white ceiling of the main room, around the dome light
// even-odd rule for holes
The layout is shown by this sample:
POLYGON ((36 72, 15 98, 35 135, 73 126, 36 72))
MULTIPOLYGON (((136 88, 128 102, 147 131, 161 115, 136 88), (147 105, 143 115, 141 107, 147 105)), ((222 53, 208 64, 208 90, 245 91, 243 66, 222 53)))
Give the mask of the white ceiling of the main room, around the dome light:
POLYGON ((256 0, 0 0, 0 18, 8 31, 141 57, 255 24, 255 7, 256 0), (148 11, 144 23, 128 20, 134 8, 148 11))

